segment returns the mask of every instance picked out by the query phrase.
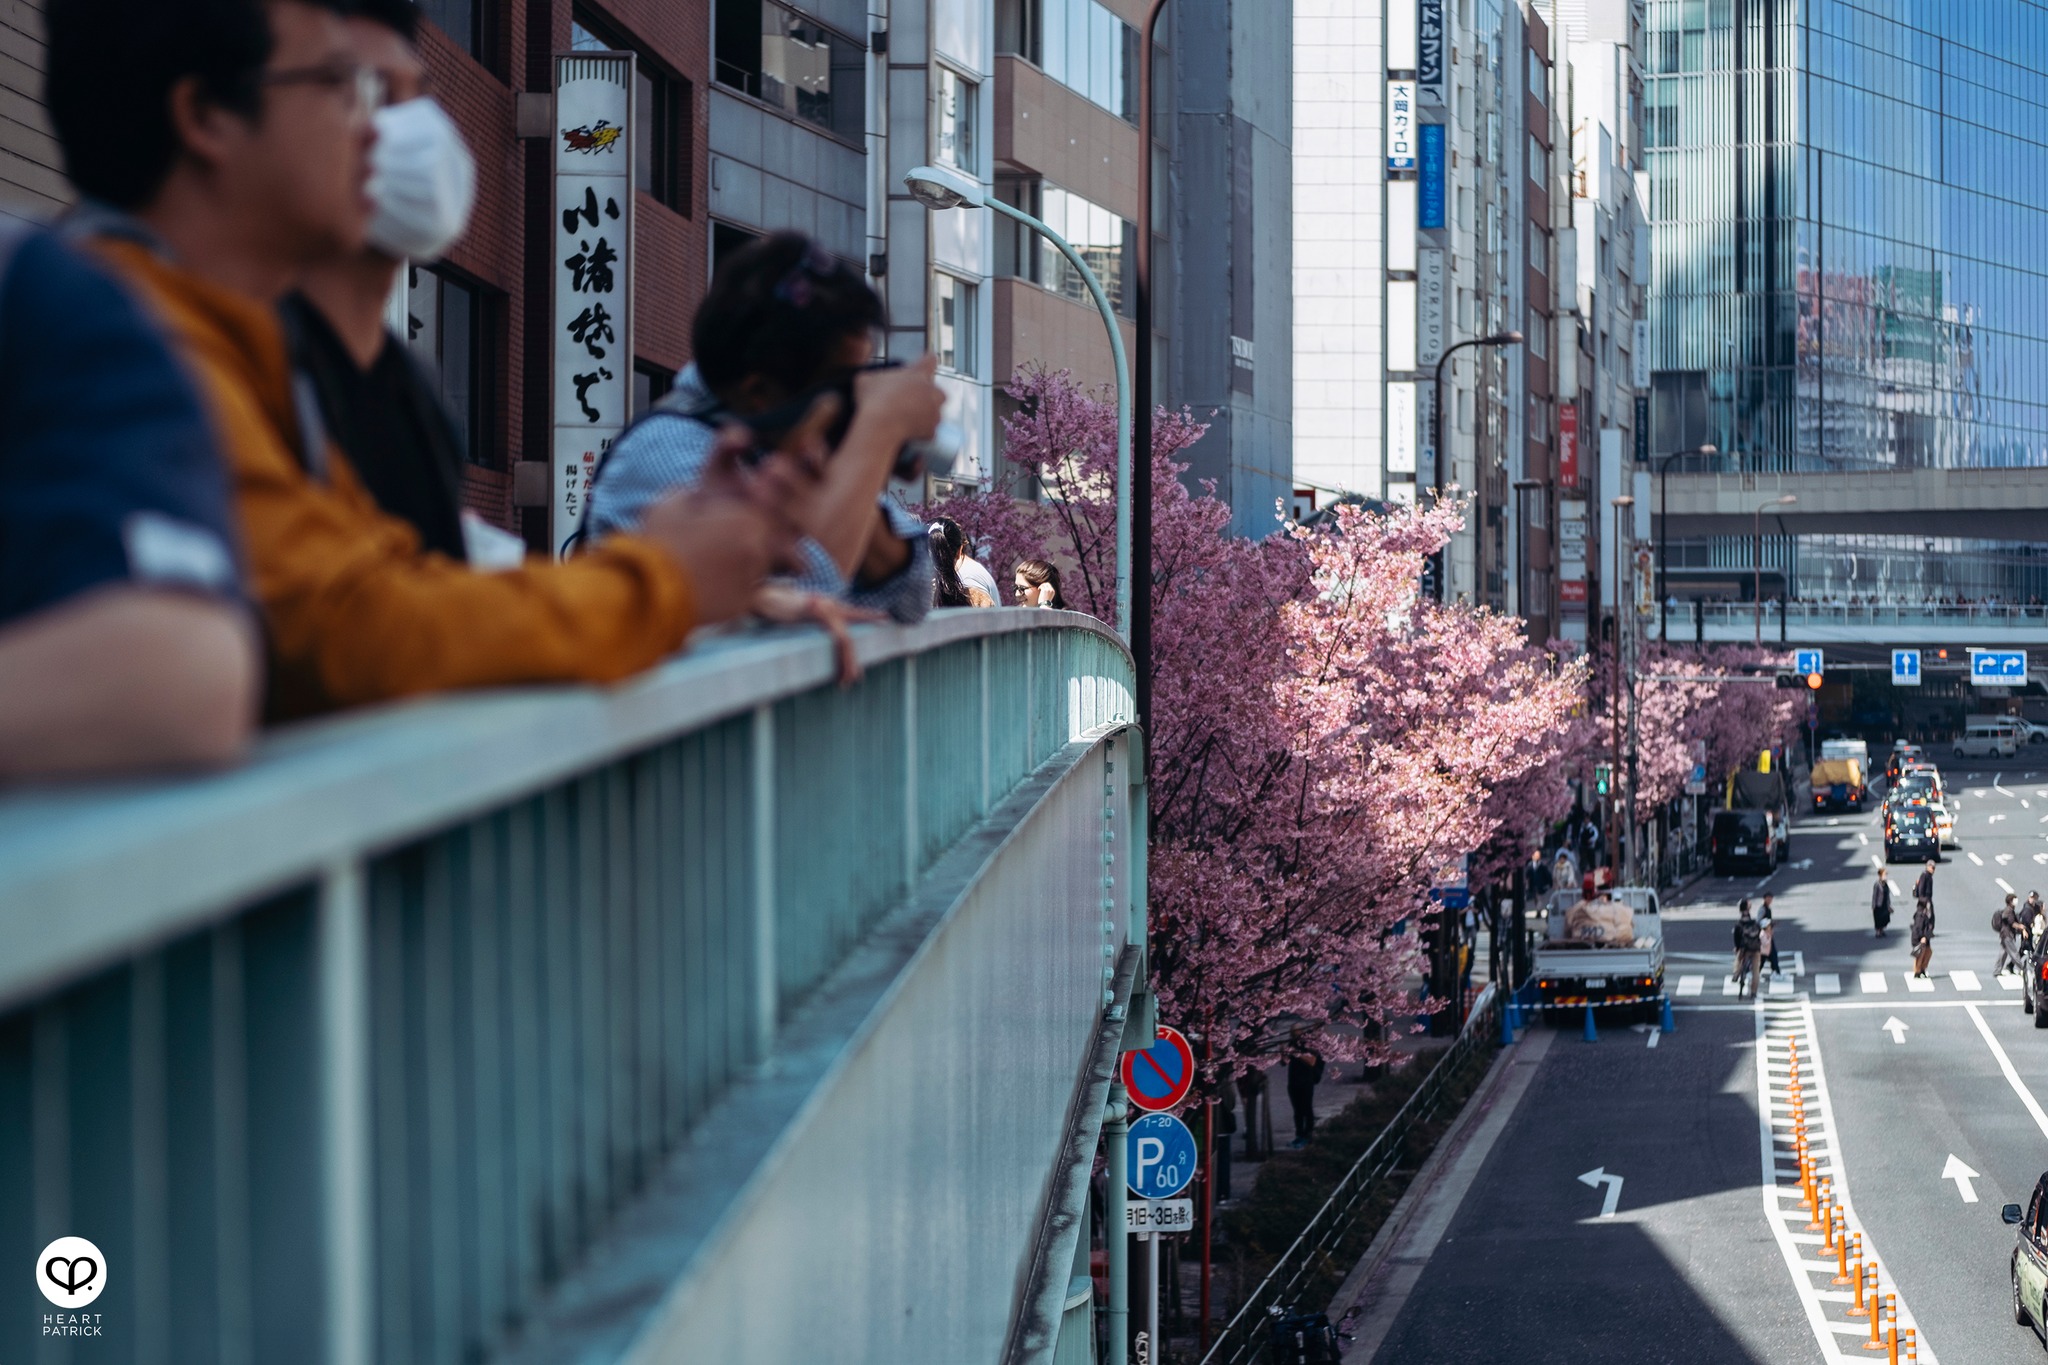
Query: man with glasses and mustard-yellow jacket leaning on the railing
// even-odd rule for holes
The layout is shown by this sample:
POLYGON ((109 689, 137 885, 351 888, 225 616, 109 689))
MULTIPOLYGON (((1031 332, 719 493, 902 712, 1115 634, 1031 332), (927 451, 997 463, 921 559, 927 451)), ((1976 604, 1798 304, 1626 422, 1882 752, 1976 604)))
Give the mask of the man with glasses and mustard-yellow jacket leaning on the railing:
MULTIPOLYGON (((299 422, 279 299, 358 252, 379 74, 336 0, 53 0, 47 100, 74 225, 166 325, 229 465, 270 716, 420 692, 625 677, 745 610, 795 542, 809 460, 674 497, 571 563, 424 553, 299 422)), ((815 424, 813 424, 815 426, 815 424)), ((815 444, 807 436, 805 442, 815 444)))

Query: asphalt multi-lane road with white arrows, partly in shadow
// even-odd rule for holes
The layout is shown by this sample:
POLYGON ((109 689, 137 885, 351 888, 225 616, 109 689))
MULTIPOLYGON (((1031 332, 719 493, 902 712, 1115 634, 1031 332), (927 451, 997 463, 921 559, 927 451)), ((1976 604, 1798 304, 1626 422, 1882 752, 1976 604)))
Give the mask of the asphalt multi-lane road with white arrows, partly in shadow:
MULTIPOLYGON (((1933 980, 1907 980, 1907 913, 1872 935, 1874 810, 1800 819, 1772 878, 1694 884, 1665 917, 1675 1031, 1585 1046, 1573 1021, 1552 1042, 1477 1179, 1440 1195, 1456 1199, 1442 1240, 1411 1248, 1423 1271, 1356 1359, 1884 1359, 1862 1349, 1866 1320, 1847 1316, 1769 1138, 1790 1126, 1794 1048, 1815 1148, 1919 1359, 2038 1353, 2009 1312, 1999 1205, 2048 1169, 2048 1029, 2021 1013, 2017 978, 1991 974, 1991 913, 2007 888, 2048 894, 2048 753, 1948 759, 1944 780, 1960 849, 1935 874, 1933 980), (1798 974, 1735 999, 1735 900, 1765 890, 1798 974), (1595 1171, 1622 1177, 1612 1216, 1608 1185, 1581 1181, 1595 1171)), ((1905 909, 1915 876, 1892 870, 1905 909)))

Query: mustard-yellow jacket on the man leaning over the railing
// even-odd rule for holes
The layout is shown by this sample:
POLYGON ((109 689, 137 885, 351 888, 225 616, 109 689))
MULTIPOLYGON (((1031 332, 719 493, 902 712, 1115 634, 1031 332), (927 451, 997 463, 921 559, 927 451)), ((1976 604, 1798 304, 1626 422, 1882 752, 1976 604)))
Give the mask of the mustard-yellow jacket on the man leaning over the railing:
POLYGON ((377 510, 338 448, 301 460, 291 362, 270 305, 137 241, 96 237, 92 248, 166 325, 211 411, 264 618, 272 718, 451 688, 610 681, 690 634, 688 577, 633 536, 508 573, 422 551, 412 526, 377 510))

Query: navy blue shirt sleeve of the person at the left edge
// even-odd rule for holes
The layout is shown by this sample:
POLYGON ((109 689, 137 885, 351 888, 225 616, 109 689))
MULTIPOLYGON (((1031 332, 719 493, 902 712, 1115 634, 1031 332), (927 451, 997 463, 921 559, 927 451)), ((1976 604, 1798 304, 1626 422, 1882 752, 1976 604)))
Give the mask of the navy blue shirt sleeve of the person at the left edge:
POLYGON ((0 280, 0 622, 106 583, 238 596, 205 409, 141 309, 37 231, 0 280))

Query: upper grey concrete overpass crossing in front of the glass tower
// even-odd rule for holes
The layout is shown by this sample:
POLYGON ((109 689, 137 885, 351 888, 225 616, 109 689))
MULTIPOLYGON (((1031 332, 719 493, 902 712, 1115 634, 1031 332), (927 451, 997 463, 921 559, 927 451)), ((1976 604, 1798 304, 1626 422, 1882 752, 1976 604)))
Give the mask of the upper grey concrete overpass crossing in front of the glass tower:
MULTIPOLYGON (((1655 465, 1653 465, 1655 469, 1655 465)), ((1677 467, 1651 489, 1665 540, 1749 534, 1968 536, 2048 540, 2048 469, 1843 469, 1829 473, 1690 473, 1677 467), (1667 501, 1665 501, 1667 499, 1667 501)), ((1675 634, 1675 628, 1673 628, 1675 634)))

